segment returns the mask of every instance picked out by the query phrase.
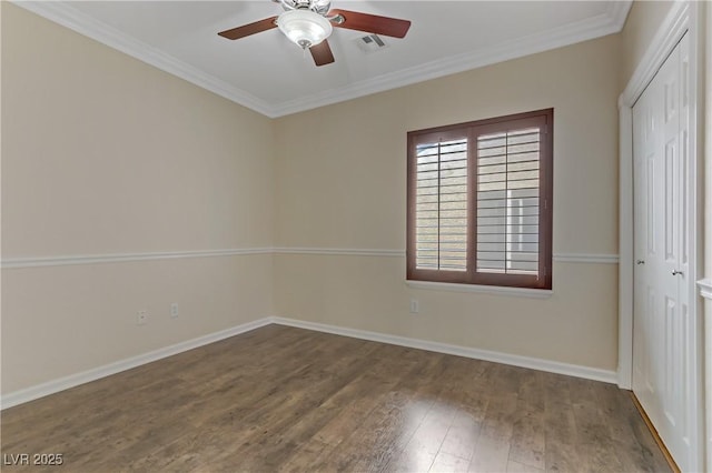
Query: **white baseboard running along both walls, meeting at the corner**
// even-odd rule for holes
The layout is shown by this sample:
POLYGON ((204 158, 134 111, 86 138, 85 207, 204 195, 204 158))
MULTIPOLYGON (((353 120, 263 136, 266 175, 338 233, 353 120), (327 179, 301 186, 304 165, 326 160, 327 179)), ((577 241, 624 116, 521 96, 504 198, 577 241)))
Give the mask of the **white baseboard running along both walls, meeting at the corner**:
POLYGON ((23 404, 26 402, 30 402, 39 397, 44 397, 46 395, 55 394, 60 391, 78 386, 80 384, 110 376, 111 374, 120 373, 121 371, 130 370, 132 368, 151 363, 154 361, 182 353, 188 350, 197 349, 199 346, 215 343, 220 340, 229 339, 230 336, 249 332, 250 330, 259 329, 260 326, 269 325, 271 323, 314 330, 324 333, 333 333, 335 335, 350 336, 354 339, 370 340, 374 342, 388 343, 392 345, 408 346, 412 349, 446 353, 474 360, 492 361, 495 363, 547 371, 551 373, 566 374, 570 376, 602 381, 605 383, 615 384, 617 381, 617 374, 614 371, 560 363, 556 361, 548 361, 528 356, 520 356, 508 353, 493 352, 488 350, 472 349, 467 346, 451 345, 447 343, 431 342, 426 340, 408 339, 405 336, 388 335, 385 333, 368 332, 365 330, 327 325, 324 323, 306 322, 296 319, 269 316, 244 323, 230 329, 221 330, 219 332, 210 333, 208 335, 199 336, 197 339, 176 343, 174 345, 158 349, 152 352, 109 363, 103 366, 87 370, 81 373, 71 374, 69 376, 60 378, 20 391, 11 392, 0 397, 0 409, 8 409, 14 405, 23 404))

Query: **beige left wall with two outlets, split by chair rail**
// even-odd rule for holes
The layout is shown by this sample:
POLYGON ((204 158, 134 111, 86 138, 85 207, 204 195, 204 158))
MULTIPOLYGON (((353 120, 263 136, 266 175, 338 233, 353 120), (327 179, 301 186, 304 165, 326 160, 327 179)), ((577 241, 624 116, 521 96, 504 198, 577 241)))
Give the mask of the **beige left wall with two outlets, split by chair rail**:
MULTIPOLYGON (((269 119, 1 3, 3 260, 273 245, 269 119)), ((2 393, 271 315, 271 265, 6 269, 2 393)))

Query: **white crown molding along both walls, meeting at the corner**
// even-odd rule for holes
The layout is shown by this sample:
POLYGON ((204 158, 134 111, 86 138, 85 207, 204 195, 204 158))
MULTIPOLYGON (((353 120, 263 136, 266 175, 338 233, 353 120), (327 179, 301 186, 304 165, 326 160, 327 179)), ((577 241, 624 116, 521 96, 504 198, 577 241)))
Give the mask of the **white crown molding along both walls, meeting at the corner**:
POLYGON ((344 88, 326 90, 296 100, 271 104, 165 52, 102 23, 72 8, 66 1, 19 1, 16 4, 50 21, 97 40, 198 87, 217 93, 269 118, 284 117, 318 107, 343 102, 385 90, 423 82, 453 73, 562 48, 590 39, 617 33, 623 28, 632 1, 611 2, 606 12, 542 33, 521 38, 486 50, 451 56, 403 71, 383 74, 344 88))

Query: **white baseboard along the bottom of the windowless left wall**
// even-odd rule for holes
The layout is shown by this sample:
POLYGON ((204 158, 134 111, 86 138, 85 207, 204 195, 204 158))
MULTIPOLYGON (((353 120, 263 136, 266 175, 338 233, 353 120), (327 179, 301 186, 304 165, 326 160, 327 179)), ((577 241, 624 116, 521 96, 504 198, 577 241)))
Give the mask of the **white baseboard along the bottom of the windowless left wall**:
POLYGON ((188 350, 215 343, 220 340, 229 339, 230 336, 239 335, 240 333, 249 332, 250 330, 259 329, 260 326, 269 325, 270 323, 271 318, 259 319, 253 322, 244 323, 241 325, 233 326, 227 330, 210 333, 208 335, 198 336, 197 339, 187 340, 185 342, 176 343, 170 346, 154 350, 151 352, 144 353, 137 356, 119 360, 113 363, 105 364, 103 366, 93 368, 81 373, 70 374, 69 376, 48 381, 42 384, 38 384, 3 395, 0 399, 0 406, 1 409, 8 409, 12 407, 13 405, 23 404, 26 402, 30 402, 39 397, 44 397, 46 395, 55 394, 60 391, 78 386, 80 384, 110 376, 111 374, 120 373, 122 371, 151 363, 154 361, 161 360, 168 356, 172 356, 188 350))

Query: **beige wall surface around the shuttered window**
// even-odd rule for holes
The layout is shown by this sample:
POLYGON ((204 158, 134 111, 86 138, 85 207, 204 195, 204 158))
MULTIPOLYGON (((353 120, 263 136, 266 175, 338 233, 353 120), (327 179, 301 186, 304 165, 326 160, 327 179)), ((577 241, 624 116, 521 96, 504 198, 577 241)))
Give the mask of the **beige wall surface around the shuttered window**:
MULTIPOLYGON (((554 108, 554 253, 617 253, 620 37, 276 121, 276 244, 405 249, 406 132, 554 108)), ((278 315, 615 370, 617 265, 554 263, 554 294, 416 290, 405 259, 275 256, 278 315), (408 313, 418 299, 421 313, 408 313)))

